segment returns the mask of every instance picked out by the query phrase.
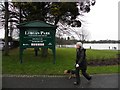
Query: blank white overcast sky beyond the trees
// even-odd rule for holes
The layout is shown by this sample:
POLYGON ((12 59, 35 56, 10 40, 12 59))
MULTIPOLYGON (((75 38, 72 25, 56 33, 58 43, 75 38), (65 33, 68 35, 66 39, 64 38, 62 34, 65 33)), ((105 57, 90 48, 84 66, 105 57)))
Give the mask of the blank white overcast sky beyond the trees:
MULTIPOLYGON (((86 14, 89 40, 118 40, 118 1, 96 0, 90 13, 86 14)), ((4 31, 0 29, 0 38, 4 31)))

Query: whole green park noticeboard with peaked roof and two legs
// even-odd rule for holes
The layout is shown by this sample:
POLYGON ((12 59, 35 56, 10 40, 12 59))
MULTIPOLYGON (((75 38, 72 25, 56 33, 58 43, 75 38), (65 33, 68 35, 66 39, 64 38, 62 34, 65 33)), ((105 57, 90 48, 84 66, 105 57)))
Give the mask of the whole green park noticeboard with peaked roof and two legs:
POLYGON ((53 51, 55 63, 55 33, 57 26, 43 21, 30 21, 18 25, 20 29, 20 62, 26 48, 50 48, 53 51))

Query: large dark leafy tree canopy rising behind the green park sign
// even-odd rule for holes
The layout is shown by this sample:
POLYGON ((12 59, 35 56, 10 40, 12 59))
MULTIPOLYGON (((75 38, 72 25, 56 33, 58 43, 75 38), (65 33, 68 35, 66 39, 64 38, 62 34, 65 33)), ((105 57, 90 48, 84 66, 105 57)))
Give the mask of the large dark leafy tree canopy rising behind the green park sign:
MULTIPOLYGON (((95 0, 92 1, 95 3, 95 0)), ((81 21, 76 18, 82 13, 88 13, 92 3, 90 0, 81 0, 80 2, 14 2, 13 7, 16 11, 20 9, 20 16, 17 16, 18 12, 11 12, 11 15, 14 18, 19 17, 21 22, 42 20, 54 25, 60 22, 72 27, 81 27, 81 21)))

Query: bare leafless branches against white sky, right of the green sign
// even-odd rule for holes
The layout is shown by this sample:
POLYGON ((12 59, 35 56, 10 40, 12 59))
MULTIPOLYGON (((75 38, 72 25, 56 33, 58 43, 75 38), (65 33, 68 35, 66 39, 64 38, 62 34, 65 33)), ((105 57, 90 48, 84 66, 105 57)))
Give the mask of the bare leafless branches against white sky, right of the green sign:
POLYGON ((57 34, 62 34, 61 37, 66 34, 67 36, 74 37, 75 39, 78 39, 82 43, 89 39, 90 33, 87 31, 86 26, 83 25, 82 27, 70 27, 65 25, 60 25, 60 27, 57 29, 57 34), (61 32, 59 32, 59 29, 61 32))

